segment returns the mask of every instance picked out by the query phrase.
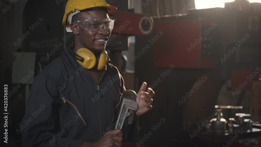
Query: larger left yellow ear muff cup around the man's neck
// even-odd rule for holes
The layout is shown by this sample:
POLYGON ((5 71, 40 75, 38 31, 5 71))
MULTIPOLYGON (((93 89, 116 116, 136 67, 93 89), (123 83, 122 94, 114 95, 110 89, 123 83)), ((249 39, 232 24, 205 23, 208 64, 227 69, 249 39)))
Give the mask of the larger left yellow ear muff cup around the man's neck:
POLYGON ((81 62, 77 60, 77 62, 86 69, 91 69, 96 65, 96 57, 92 53, 92 51, 86 49, 86 48, 80 48, 76 54, 84 58, 84 61, 81 62))

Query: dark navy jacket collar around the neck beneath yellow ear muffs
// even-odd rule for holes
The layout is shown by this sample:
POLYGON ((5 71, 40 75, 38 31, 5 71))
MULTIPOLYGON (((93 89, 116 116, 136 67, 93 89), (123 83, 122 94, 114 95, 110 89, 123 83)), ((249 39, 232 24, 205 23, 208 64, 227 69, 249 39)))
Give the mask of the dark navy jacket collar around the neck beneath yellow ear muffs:
MULTIPOLYGON (((64 51, 62 52, 62 61, 67 64, 67 66, 69 66, 70 68, 74 69, 74 70, 82 70, 81 72, 83 72, 84 74, 91 76, 90 72, 88 71, 88 69, 82 67, 77 61, 76 59, 69 53, 70 48, 66 48, 64 49, 64 51)), ((107 63, 108 64, 108 63, 107 63)), ((107 64, 105 65, 105 68, 102 70, 102 72, 105 72, 107 70, 107 64)))

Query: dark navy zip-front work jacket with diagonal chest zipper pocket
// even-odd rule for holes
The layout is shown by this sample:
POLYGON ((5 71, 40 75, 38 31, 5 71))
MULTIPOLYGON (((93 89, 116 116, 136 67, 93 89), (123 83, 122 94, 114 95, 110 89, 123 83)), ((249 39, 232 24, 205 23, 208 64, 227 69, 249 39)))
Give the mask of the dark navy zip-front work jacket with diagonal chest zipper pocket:
MULTIPOLYGON (((80 147, 114 130, 125 87, 115 66, 107 63, 104 70, 97 83, 68 49, 44 68, 33 81, 21 122, 23 145, 80 147)), ((124 124, 123 133, 128 129, 124 124)))

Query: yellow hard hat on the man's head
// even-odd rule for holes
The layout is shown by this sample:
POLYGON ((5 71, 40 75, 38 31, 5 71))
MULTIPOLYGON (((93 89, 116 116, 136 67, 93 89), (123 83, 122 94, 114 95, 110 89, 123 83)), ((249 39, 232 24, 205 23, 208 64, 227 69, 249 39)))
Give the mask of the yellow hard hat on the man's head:
POLYGON ((112 13, 117 10, 116 7, 110 6, 105 0, 68 0, 65 13, 63 16, 63 25, 70 27, 66 20, 68 15, 75 10, 85 10, 88 8, 104 7, 108 9, 108 13, 112 13))

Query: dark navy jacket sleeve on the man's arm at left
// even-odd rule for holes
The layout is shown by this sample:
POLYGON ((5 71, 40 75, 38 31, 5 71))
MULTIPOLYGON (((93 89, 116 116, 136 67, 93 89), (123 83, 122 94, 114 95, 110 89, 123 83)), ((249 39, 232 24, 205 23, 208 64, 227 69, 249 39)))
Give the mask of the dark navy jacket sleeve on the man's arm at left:
POLYGON ((37 75, 29 93, 25 116, 20 125, 24 146, 81 146, 81 140, 62 137, 57 96, 55 80, 47 73, 37 75))

